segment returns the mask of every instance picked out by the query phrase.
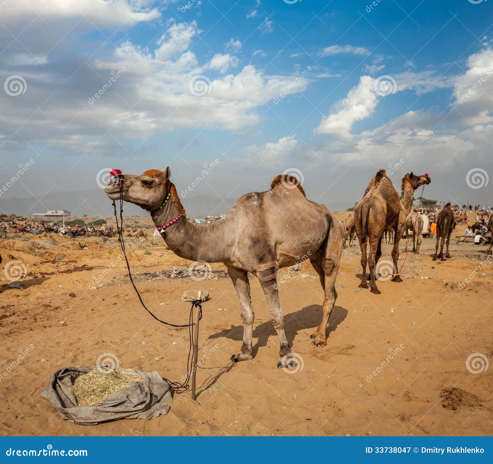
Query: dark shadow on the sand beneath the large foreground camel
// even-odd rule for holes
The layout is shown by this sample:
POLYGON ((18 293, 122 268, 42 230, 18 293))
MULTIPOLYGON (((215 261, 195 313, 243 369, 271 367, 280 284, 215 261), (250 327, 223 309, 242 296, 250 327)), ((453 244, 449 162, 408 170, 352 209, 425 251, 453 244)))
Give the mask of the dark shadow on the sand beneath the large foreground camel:
MULTIPOLYGON (((289 345, 292 346, 294 337, 298 332, 318 327, 318 324, 322 318, 322 306, 321 305, 310 305, 296 311, 295 313, 286 314, 284 316, 284 330, 286 332, 286 338, 289 345)), ((348 315, 348 310, 342 308, 341 306, 334 306, 332 313, 330 315, 329 325, 325 333, 327 337, 334 332, 338 325, 346 319, 348 315)), ((277 332, 272 326, 271 321, 262 322, 254 327, 252 332, 253 338, 257 338, 257 342, 252 347, 252 357, 255 357, 258 353, 259 348, 267 346, 267 342, 271 336, 277 337, 277 332)), ((212 338, 229 338, 238 342, 243 341, 243 325, 231 325, 231 328, 223 329, 220 332, 216 332, 209 336, 212 338)), ((310 339, 308 339, 310 340, 310 339)))

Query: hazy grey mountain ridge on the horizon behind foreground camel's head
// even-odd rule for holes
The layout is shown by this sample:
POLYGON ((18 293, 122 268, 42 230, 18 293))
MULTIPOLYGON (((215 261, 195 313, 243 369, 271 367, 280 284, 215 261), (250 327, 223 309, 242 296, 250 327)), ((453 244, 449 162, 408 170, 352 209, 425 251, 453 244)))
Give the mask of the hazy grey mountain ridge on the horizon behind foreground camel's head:
MULTIPOLYGON (((196 195, 182 199, 189 217, 226 214, 236 203, 237 198, 219 198, 209 195, 196 195)), ((113 214, 111 200, 100 188, 81 192, 50 192, 39 201, 31 198, 0 198, 0 213, 32 215, 46 210, 68 210, 73 216, 110 216, 113 214)), ((126 216, 145 216, 148 213, 130 203, 124 204, 126 216)))

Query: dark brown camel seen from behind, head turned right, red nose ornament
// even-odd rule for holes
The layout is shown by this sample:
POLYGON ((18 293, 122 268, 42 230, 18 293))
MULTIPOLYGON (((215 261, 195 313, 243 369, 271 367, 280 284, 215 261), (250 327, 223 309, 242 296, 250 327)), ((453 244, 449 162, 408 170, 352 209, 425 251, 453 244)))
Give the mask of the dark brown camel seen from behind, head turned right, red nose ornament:
POLYGON ((399 200, 399 194, 395 191, 385 169, 381 169, 370 180, 363 198, 354 209, 354 225, 361 248, 361 267, 363 268, 359 287, 368 288, 366 283, 366 263, 368 262, 371 292, 381 293, 375 284, 374 270, 382 256, 382 237, 386 230, 394 231, 392 282, 402 282, 397 272, 397 260, 399 259, 399 242, 404 232, 403 225, 413 206, 415 189, 430 182, 431 179, 426 175, 415 176, 412 172, 406 174, 402 178, 401 199, 399 200), (367 242, 370 244, 368 260, 366 257, 367 242))

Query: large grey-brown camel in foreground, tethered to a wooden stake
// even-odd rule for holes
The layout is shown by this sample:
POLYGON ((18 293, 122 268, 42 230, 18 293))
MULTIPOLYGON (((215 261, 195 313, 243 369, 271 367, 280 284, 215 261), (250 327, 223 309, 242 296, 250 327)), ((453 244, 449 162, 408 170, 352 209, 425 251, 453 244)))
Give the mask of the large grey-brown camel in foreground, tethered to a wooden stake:
POLYGON ((222 262, 240 300, 244 325, 243 344, 233 361, 252 359, 254 313, 248 272, 260 282, 269 306, 270 320, 280 342, 278 367, 294 367, 297 361, 284 332, 284 316, 277 285, 278 269, 310 259, 324 291, 323 316, 313 345, 325 346, 330 313, 337 298, 335 282, 341 262, 342 223, 324 205, 306 198, 294 176, 277 176, 271 189, 243 195, 223 218, 196 225, 186 214, 170 180, 171 171, 145 171, 140 176, 113 177, 106 195, 134 203, 151 214, 168 247, 192 261, 222 262), (168 201, 171 200, 171 201, 168 201))

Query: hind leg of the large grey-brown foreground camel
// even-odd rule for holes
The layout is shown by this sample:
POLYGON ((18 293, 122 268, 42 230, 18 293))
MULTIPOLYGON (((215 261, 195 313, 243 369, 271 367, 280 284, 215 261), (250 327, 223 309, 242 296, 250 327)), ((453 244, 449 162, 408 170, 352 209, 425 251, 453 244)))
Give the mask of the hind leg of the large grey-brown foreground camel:
POLYGON ((322 347, 327 344, 327 326, 330 319, 330 313, 334 308, 337 299, 335 288, 337 273, 341 264, 342 237, 338 236, 338 231, 331 231, 327 238, 326 246, 322 248, 323 253, 320 259, 312 263, 320 276, 320 283, 324 292, 323 298, 323 316, 317 330, 310 335, 313 338, 312 345, 322 347), (323 250, 325 248, 325 250, 323 250))

